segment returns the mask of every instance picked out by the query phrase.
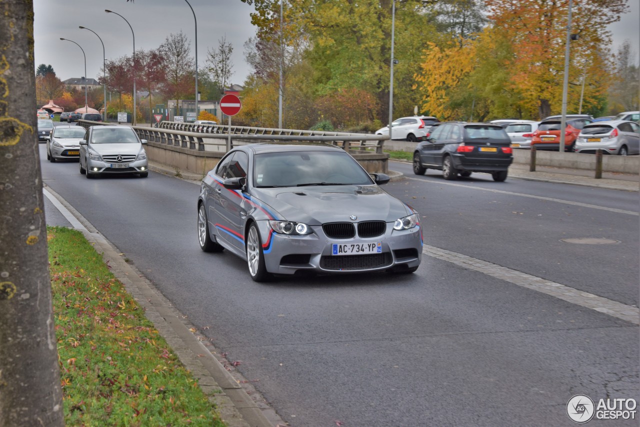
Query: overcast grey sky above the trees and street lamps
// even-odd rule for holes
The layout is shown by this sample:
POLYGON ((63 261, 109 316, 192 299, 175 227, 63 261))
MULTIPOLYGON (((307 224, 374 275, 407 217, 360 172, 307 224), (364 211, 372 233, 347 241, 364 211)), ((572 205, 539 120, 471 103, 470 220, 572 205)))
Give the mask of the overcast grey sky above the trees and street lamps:
MULTIPOLYGON (((227 37, 234 47, 232 61, 234 75, 231 83, 242 85, 251 69, 244 63, 244 42, 253 35, 249 13, 253 6, 240 0, 189 0, 198 20, 198 70, 203 72, 207 50, 218 47, 218 40, 227 37)), ((636 61, 640 45, 640 0, 628 0, 630 12, 620 22, 611 26, 615 52, 625 39, 630 40, 636 61)), ((157 49, 171 33, 183 33, 191 40, 191 50, 195 54, 195 22, 189 5, 183 0, 83 0, 52 1, 34 0, 35 12, 35 66, 51 65, 58 78, 84 75, 82 51, 73 43, 77 42, 86 54, 87 77, 97 79, 102 68, 102 45, 91 31, 95 31, 106 51, 106 58, 114 60, 131 55, 133 39, 131 29, 120 13, 131 24, 136 37, 136 49, 157 49)))

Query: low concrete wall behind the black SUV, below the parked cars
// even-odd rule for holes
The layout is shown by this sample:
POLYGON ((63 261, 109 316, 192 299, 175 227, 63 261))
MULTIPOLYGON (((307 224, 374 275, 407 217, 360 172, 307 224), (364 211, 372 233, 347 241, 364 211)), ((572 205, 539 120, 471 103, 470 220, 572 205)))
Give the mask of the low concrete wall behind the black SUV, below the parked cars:
MULTIPOLYGON (((385 150, 413 152, 417 145, 417 142, 385 141, 385 150)), ((513 150, 513 163, 529 165, 530 158, 530 150, 513 150)), ((596 156, 593 154, 538 150, 536 152, 536 165, 595 170, 596 156)), ((640 156, 611 156, 606 154, 602 156, 602 171, 638 175, 640 172, 640 156)))

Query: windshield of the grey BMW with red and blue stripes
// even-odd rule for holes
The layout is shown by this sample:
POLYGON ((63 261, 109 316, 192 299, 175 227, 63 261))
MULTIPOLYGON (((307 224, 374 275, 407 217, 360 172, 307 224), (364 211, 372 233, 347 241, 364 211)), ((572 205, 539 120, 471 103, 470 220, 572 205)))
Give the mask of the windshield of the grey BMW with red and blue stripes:
POLYGON ((296 187, 371 185, 369 174, 346 152, 299 151, 257 154, 253 185, 296 187))

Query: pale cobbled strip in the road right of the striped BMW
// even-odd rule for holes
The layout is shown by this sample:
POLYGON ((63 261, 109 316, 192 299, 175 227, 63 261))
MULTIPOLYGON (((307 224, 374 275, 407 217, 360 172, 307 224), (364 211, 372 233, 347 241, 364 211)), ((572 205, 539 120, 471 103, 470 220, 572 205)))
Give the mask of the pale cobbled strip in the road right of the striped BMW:
POLYGON ((511 270, 511 268, 458 254, 457 252, 436 248, 435 246, 424 245, 422 253, 430 257, 451 262, 468 270, 479 271, 480 273, 531 289, 532 291, 554 296, 566 302, 581 305, 591 310, 609 314, 609 316, 613 316, 614 318, 640 325, 640 310, 638 307, 633 307, 632 305, 609 300, 609 298, 604 298, 604 296, 597 296, 585 291, 580 291, 580 289, 522 273, 522 271, 511 270))

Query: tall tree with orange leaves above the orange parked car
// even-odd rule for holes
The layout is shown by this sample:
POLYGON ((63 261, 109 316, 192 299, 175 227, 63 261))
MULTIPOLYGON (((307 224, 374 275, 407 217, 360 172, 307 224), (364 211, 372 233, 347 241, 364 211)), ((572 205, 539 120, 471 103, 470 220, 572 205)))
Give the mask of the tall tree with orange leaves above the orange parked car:
MULTIPOLYGON (((495 31, 509 40, 513 51, 509 87, 522 95, 522 108, 544 118, 561 109, 568 0, 488 0, 495 31)), ((607 26, 627 12, 627 0, 574 0, 568 111, 577 112, 582 74, 589 78, 584 99, 604 102, 611 61, 607 26)), ((602 106, 604 108, 604 106, 602 106)))

